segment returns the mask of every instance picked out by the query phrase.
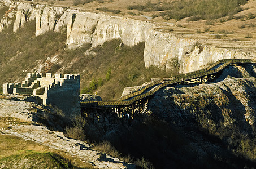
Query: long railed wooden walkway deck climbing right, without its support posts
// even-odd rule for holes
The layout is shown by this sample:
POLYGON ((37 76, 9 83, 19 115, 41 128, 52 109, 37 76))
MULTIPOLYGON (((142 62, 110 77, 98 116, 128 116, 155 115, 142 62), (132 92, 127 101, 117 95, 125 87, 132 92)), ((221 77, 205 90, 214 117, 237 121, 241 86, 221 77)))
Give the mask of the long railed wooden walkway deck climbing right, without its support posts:
MULTIPOLYGON (((204 77, 210 74, 215 74, 223 70, 225 67, 227 67, 229 64, 234 64, 234 63, 253 63, 253 60, 251 59, 223 59, 216 61, 216 63, 210 65, 209 67, 201 70, 197 70, 194 72, 190 73, 185 73, 185 74, 180 74, 175 77, 173 77, 171 80, 168 81, 155 81, 153 83, 150 83, 149 85, 145 86, 142 88, 140 91, 134 92, 132 94, 129 94, 127 96, 121 97, 118 101, 88 101, 88 102, 81 102, 81 107, 86 106, 125 106, 125 105, 131 105, 134 103, 134 101, 141 100, 145 97, 153 95, 155 92, 160 90, 160 88, 169 86, 171 84, 176 84, 180 82, 185 82, 190 79, 195 79, 199 77, 204 77), (223 64, 222 64, 223 63, 223 64), (215 66, 222 64, 218 66, 215 69, 215 66), (155 87, 153 90, 145 92, 146 90, 155 87), (145 94, 144 94, 145 92, 145 94)), ((165 78, 166 79, 166 78, 165 78)))

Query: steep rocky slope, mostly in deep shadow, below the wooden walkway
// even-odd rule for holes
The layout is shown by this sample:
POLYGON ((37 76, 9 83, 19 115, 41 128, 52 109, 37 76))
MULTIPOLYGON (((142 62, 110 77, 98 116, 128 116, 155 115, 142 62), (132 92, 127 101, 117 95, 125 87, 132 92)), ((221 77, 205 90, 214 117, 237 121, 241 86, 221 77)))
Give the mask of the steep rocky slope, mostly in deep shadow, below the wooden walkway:
POLYGON ((255 78, 255 64, 235 64, 209 83, 165 87, 149 100, 151 117, 103 138, 155 168, 253 168, 255 78))

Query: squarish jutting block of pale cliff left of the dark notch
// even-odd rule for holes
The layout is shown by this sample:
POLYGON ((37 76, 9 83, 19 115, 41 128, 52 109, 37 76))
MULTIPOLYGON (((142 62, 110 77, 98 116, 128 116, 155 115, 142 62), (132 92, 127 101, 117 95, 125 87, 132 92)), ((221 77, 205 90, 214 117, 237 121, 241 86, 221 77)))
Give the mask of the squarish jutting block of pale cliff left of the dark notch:
POLYGON ((196 43, 196 39, 184 39, 170 33, 150 30, 144 49, 145 66, 157 66, 168 71, 171 68, 170 59, 176 57, 180 62, 185 54, 194 50, 196 43))

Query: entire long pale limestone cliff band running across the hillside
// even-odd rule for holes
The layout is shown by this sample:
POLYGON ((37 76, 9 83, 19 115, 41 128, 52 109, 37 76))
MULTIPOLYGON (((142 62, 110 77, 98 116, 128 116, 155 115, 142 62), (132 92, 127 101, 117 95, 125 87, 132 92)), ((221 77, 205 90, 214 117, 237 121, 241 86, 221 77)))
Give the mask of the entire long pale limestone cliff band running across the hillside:
MULTIPOLYGON (((167 72, 176 66, 173 60, 179 63, 179 73, 188 73, 220 59, 251 59, 256 56, 255 52, 246 49, 219 48, 206 45, 207 42, 201 42, 201 39, 159 30, 153 21, 1 0, 0 7, 4 5, 9 6, 9 10, 0 21, 0 30, 14 22, 13 30, 16 32, 27 22, 36 20, 36 35, 49 30, 67 33, 66 43, 70 48, 88 43, 96 47, 111 39, 121 39, 128 46, 145 42, 145 66, 157 66, 167 72)), ((255 47, 254 44, 250 48, 255 47)))

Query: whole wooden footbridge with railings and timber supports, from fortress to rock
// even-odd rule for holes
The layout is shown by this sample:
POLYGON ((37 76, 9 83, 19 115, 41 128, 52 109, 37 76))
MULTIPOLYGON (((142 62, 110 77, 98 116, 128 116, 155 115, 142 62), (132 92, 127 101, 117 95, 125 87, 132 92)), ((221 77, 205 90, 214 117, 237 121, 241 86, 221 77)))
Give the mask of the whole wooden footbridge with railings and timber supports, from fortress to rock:
POLYGON ((130 121, 133 118, 140 119, 140 117, 150 114, 147 110, 147 103, 150 97, 161 88, 176 84, 209 82, 218 77, 228 65, 235 63, 255 63, 255 61, 251 59, 223 59, 205 69, 155 81, 140 91, 121 97, 117 101, 81 102, 81 114, 94 123, 115 123, 120 119, 122 121, 130 121))

